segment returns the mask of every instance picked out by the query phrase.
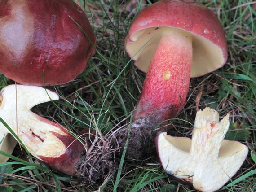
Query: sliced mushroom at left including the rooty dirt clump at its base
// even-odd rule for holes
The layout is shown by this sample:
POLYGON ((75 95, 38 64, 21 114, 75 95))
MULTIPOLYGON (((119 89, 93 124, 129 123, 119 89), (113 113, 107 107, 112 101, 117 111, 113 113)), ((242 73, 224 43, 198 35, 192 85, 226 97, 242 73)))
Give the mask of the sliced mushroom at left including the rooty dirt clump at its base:
MULTIPOLYGON (((57 93, 42 87, 17 85, 16 90, 15 85, 9 85, 0 92, 0 117, 34 157, 53 169, 78 177, 82 183, 99 184, 115 170, 112 154, 115 150, 110 142, 88 127, 82 131, 83 135, 75 137, 66 127, 30 110, 58 99, 57 93)), ((16 143, 0 123, 0 150, 11 154, 16 143)), ((7 160, 8 157, 0 155, 0 163, 7 160)))

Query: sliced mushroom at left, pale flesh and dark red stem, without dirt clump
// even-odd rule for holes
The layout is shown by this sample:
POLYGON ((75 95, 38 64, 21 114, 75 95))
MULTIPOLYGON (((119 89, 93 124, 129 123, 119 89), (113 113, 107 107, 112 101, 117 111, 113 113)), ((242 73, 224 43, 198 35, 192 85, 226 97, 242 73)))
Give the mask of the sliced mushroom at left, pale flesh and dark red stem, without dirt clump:
MULTIPOLYGON (((34 157, 63 173, 78 175, 76 165, 84 150, 83 144, 73 137, 66 127, 42 118, 30 110, 40 103, 58 100, 59 96, 42 87, 17 85, 16 108, 15 93, 15 85, 1 90, 0 117, 34 157)), ((8 129, 2 123, 0 131, 0 140, 3 140, 0 150, 12 153, 16 141, 10 137, 8 129)), ((8 157, 0 155, 0 163, 7 160, 8 157)))

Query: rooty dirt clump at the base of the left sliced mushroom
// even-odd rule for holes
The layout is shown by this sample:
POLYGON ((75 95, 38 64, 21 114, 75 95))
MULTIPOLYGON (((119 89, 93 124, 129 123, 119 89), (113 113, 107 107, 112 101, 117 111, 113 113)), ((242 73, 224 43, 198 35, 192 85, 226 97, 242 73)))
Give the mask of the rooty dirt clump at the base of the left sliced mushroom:
POLYGON ((116 163, 114 151, 108 140, 96 138, 91 146, 84 150, 76 166, 81 182, 88 187, 104 183, 114 172, 116 163))

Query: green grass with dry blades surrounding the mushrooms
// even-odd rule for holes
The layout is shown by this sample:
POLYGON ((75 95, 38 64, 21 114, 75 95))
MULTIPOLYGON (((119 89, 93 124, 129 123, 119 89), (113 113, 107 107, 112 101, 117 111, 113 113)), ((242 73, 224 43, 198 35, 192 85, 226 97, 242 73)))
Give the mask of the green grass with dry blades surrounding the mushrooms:
MULTIPOLYGON (((77 0, 84 5, 83 0, 77 0)), ((77 135, 90 127, 106 134, 127 126, 139 98, 145 74, 137 70, 124 51, 123 40, 135 15, 152 0, 87 0, 85 12, 97 35, 97 53, 87 69, 71 83, 56 86, 62 100, 42 104, 34 112, 55 120, 77 135)), ((187 103, 176 119, 170 120, 169 134, 191 136, 196 105, 212 107, 221 117, 230 113, 227 138, 239 140, 256 151, 256 2, 252 0, 201 0, 214 11, 225 29, 229 57, 223 68, 191 79, 187 103), (202 93, 199 100, 199 92, 202 93), (197 99, 198 98, 198 99, 197 99), (199 102, 196 103, 196 100, 199 102)), ((0 85, 12 84, 0 75, 0 85)), ((3 152, 0 152, 4 154, 3 152)), ((17 146, 9 162, 0 164, 0 192, 36 191, 160 191, 189 192, 193 188, 164 173, 157 157, 144 161, 116 158, 119 169, 100 188, 89 189, 76 178, 51 170, 17 146)), ((232 166, 232 165, 230 165, 232 166)), ((256 191, 256 157, 248 155, 242 168, 222 188, 232 192, 256 191)))

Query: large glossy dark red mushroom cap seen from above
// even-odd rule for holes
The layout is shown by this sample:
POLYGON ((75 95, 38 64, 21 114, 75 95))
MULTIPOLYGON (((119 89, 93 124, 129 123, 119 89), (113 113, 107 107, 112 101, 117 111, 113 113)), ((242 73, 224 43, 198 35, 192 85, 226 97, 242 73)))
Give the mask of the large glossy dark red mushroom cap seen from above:
POLYGON ((87 16, 72 0, 0 1, 0 73, 20 84, 70 82, 84 71, 95 42, 87 16))

